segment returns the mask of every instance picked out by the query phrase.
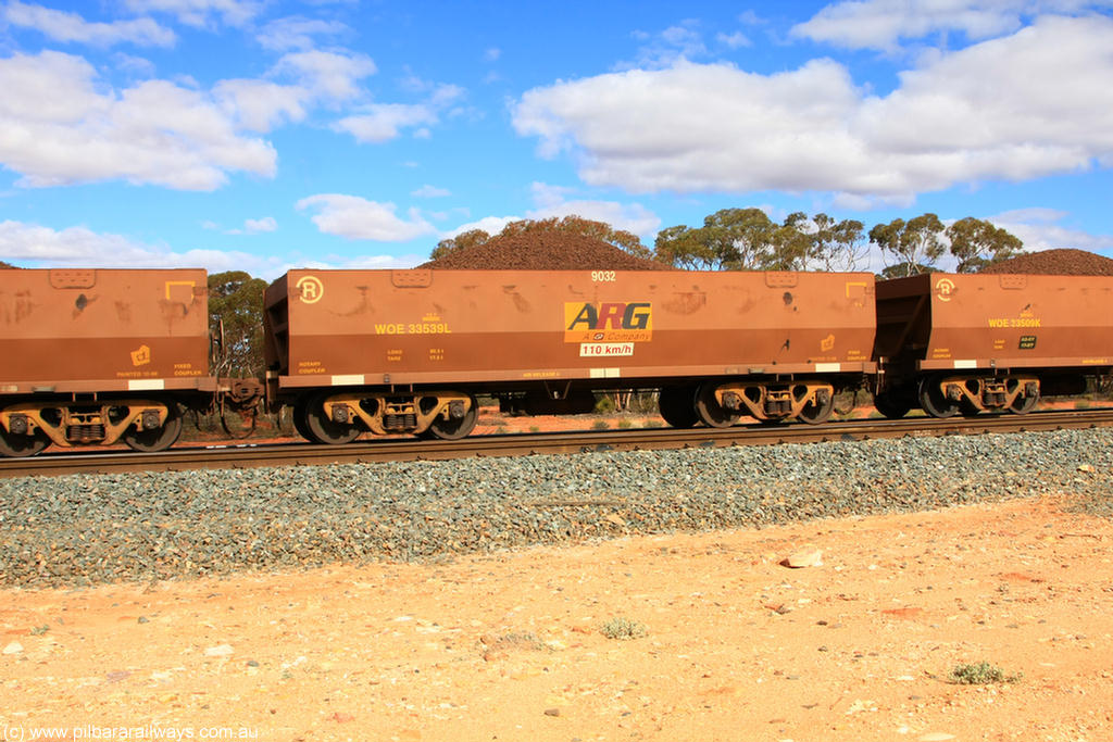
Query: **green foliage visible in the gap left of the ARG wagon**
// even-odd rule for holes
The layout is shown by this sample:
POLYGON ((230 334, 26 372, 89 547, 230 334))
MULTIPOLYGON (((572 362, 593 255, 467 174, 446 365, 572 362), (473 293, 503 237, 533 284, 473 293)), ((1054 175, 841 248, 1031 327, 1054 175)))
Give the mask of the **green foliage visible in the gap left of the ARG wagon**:
POLYGON ((209 276, 209 319, 215 345, 213 373, 226 377, 262 376, 263 291, 267 284, 243 270, 209 276), (221 334, 223 327, 223 334, 221 334))

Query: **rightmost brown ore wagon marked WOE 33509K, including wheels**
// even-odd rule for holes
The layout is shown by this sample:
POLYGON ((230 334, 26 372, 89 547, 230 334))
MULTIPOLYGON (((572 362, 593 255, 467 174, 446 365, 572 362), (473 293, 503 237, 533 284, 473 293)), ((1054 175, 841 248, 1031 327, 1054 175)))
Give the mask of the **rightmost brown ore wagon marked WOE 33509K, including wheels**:
POLYGON ((1113 278, 924 274, 877 284, 878 409, 1024 413, 1113 367, 1113 278))

